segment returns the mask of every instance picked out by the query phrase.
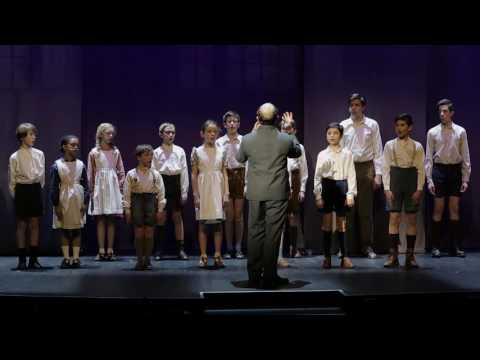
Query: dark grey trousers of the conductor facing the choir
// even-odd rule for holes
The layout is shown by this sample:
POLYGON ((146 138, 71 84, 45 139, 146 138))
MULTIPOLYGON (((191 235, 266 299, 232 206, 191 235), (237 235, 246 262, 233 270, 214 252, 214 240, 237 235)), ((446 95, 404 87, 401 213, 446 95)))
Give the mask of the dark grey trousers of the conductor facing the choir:
POLYGON ((274 281, 288 201, 250 200, 248 204, 248 277, 258 280, 263 272, 264 281, 274 281))

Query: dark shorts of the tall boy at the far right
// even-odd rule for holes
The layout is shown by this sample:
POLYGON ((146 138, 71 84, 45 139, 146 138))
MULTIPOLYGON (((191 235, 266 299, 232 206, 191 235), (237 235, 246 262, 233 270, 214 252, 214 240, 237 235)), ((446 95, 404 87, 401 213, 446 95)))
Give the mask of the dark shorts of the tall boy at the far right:
POLYGON ((433 164, 432 180, 435 197, 461 196, 462 164, 433 164))

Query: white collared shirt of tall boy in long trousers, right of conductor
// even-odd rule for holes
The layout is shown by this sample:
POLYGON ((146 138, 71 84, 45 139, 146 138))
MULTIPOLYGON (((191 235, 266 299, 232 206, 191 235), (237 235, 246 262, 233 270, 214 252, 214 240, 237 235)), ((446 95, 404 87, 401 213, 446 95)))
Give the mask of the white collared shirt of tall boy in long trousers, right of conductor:
POLYGON ((373 160, 375 174, 382 174, 382 137, 378 123, 366 116, 356 126, 350 117, 340 123, 343 126, 343 137, 340 141, 353 154, 354 162, 373 160))

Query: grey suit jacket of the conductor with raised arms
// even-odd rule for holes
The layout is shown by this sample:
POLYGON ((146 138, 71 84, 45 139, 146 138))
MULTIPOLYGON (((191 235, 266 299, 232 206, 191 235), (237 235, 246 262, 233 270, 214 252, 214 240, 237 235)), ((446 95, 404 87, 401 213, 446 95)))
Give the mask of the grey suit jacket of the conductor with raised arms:
POLYGON ((298 158, 301 155, 302 149, 296 137, 281 133, 273 125, 262 125, 245 135, 237 160, 248 161, 247 199, 288 199, 287 157, 298 158))

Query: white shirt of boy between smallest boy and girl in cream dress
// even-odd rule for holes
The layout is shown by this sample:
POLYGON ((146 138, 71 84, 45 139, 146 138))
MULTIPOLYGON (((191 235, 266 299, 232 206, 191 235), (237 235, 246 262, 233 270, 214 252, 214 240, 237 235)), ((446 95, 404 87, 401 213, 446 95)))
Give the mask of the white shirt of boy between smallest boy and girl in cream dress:
POLYGON ((180 174, 182 199, 187 199, 189 180, 185 150, 173 144, 172 152, 169 153, 159 146, 153 152, 152 167, 162 175, 180 174))

